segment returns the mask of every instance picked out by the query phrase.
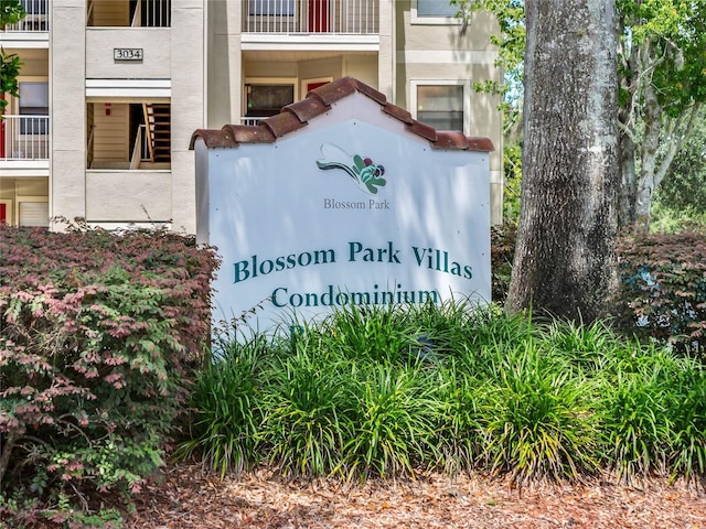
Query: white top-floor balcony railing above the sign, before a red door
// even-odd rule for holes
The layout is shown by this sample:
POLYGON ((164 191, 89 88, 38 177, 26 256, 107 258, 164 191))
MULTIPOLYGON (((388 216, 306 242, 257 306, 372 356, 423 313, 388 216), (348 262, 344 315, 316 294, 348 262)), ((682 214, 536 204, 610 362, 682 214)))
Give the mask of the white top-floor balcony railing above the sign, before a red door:
POLYGON ((243 0, 244 33, 379 32, 378 0, 243 0))

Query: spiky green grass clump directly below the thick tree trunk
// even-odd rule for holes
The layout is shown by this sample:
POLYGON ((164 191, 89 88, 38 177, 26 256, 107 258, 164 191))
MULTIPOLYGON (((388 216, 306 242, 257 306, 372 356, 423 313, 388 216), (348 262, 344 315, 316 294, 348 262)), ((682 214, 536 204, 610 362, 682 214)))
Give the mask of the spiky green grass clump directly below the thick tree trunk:
POLYGON ((592 385, 532 343, 502 356, 498 386, 482 404, 491 469, 521 483, 592 474, 599 462, 592 385))

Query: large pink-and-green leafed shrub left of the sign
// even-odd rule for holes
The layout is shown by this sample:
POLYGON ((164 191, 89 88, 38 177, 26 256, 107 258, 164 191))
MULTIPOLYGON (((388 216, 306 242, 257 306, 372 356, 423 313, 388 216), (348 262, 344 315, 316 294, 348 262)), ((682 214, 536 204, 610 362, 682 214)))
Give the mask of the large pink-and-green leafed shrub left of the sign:
POLYGON ((42 508, 129 494, 158 468, 206 350, 215 267, 165 231, 0 224, 0 510, 10 492, 42 508))

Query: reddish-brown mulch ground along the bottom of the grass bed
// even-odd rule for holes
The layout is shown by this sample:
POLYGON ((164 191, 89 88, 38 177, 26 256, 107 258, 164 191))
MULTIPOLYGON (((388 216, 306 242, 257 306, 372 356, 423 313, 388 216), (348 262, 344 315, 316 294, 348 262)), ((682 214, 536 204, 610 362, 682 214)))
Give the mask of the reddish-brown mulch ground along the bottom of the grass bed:
POLYGON ((346 487, 285 483, 265 471, 221 479, 199 464, 180 463, 138 495, 127 527, 706 529, 706 492, 663 482, 518 489, 503 479, 437 474, 346 487))

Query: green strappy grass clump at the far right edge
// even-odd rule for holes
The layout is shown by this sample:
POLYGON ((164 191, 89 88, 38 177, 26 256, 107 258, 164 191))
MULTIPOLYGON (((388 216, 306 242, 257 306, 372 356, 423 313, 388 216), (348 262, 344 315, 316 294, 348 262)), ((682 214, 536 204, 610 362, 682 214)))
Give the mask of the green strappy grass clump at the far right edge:
POLYGON ((603 384, 607 464, 621 481, 703 478, 706 386, 699 361, 643 346, 618 361, 603 384))

